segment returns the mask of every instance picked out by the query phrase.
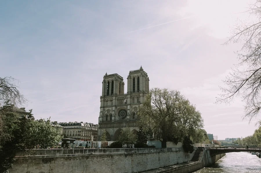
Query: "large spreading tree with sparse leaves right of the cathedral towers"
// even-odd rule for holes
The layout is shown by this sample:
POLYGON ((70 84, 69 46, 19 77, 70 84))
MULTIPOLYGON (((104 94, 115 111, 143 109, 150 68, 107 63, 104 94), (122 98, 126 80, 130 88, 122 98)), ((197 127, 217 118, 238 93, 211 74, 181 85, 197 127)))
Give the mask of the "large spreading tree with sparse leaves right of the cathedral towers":
POLYGON ((153 131, 162 142, 162 148, 167 141, 183 141, 184 137, 195 136, 197 130, 203 128, 200 112, 179 91, 151 89, 139 107, 139 117, 141 126, 145 131, 153 131))

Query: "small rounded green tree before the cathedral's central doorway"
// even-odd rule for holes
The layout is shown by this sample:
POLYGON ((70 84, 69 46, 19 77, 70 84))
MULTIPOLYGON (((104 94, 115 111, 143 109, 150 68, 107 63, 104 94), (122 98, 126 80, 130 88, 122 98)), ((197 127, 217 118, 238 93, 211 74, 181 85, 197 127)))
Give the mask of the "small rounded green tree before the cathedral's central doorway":
POLYGON ((132 145, 136 142, 136 136, 129 128, 125 128, 121 131, 119 135, 119 142, 121 142, 123 145, 126 145, 129 147, 129 145, 132 145))

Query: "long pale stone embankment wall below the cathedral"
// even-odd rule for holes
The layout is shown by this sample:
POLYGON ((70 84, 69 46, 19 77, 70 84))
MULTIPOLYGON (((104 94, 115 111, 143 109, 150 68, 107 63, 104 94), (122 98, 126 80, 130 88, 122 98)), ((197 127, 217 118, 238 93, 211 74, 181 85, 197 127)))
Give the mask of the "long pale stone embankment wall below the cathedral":
POLYGON ((194 152, 184 153, 181 148, 120 148, 35 150, 35 154, 38 156, 17 156, 9 172, 133 173, 190 161, 194 152), (75 154, 91 151, 94 154, 75 154))

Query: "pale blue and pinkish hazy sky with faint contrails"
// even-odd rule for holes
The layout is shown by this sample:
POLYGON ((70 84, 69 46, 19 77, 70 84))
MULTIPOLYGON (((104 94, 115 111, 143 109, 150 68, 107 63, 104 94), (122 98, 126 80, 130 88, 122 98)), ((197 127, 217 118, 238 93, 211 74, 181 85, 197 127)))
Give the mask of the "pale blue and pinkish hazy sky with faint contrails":
MULTIPOLYGON (((218 139, 252 135, 244 102, 215 104, 242 43, 223 45, 250 0, 1 1, 0 74, 36 119, 98 123, 103 76, 148 73, 180 90, 218 139)), ((125 85, 125 92, 127 91, 125 85)))

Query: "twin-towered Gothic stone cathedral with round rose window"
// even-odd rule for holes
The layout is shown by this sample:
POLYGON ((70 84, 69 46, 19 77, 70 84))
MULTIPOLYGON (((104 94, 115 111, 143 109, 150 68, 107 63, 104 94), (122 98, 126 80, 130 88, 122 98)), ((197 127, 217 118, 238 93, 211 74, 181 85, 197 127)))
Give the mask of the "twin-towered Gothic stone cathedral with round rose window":
POLYGON ((103 77, 98 140, 104 131, 108 141, 116 141, 120 131, 126 127, 133 133, 139 131, 138 106, 149 92, 148 74, 142 66, 131 70, 127 78, 127 93, 124 92, 123 77, 117 73, 103 77))

